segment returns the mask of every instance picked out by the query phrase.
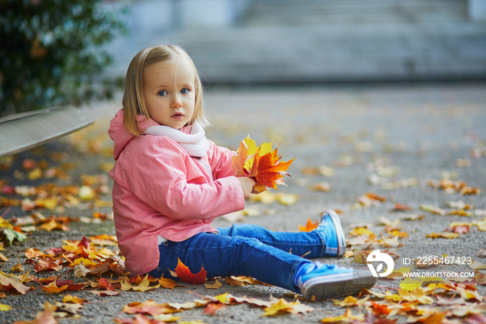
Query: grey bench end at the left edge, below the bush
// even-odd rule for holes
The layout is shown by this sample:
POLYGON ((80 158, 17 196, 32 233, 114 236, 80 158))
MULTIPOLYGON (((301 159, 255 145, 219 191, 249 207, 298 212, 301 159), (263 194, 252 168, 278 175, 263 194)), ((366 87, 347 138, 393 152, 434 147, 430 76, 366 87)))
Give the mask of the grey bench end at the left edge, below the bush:
POLYGON ((0 158, 56 140, 93 122, 89 115, 73 106, 0 118, 0 158))

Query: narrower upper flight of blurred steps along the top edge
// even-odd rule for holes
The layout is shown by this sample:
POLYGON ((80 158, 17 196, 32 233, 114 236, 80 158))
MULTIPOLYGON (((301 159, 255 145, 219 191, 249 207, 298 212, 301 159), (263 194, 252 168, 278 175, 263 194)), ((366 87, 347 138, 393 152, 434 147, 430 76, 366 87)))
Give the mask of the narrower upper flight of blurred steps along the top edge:
POLYGON ((376 24, 462 21, 466 0, 259 0, 244 25, 376 24))

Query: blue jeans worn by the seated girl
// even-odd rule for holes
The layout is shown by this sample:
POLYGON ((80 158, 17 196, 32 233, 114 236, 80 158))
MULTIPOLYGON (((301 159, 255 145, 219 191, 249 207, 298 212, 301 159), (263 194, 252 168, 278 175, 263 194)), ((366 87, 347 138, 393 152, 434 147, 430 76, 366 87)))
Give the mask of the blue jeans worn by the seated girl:
POLYGON ((175 270, 181 259, 192 273, 203 266, 208 278, 247 276, 299 292, 294 285, 296 270, 311 262, 305 258, 324 256, 324 238, 318 231, 273 232, 258 225, 218 230, 218 234, 199 233, 182 242, 160 244, 158 268, 149 275, 177 280, 169 269, 175 270))

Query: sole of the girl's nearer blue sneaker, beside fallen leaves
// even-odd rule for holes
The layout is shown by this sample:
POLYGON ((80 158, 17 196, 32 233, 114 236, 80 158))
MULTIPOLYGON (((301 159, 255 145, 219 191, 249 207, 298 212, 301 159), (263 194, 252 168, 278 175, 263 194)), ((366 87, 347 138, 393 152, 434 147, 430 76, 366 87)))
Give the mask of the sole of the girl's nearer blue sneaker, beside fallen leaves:
POLYGON ((351 295, 359 293, 361 289, 370 289, 376 284, 376 277, 371 273, 369 275, 361 275, 358 279, 353 279, 353 276, 347 275, 342 279, 336 277, 326 276, 326 281, 322 280, 308 280, 301 287, 301 293, 307 300, 324 300, 328 298, 336 298, 344 295, 351 295))

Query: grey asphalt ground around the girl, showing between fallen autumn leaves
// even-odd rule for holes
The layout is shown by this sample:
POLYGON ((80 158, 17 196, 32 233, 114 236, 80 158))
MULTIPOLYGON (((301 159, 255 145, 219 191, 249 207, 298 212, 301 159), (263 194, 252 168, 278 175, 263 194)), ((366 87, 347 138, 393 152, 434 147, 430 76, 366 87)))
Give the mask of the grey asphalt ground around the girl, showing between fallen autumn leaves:
MULTIPOLYGON (((258 144, 271 140, 274 147, 280 144, 278 152, 284 161, 296 157, 289 169, 292 177, 285 177, 287 186, 280 186, 279 191, 270 191, 271 197, 281 194, 279 197, 285 204, 249 200, 245 213, 219 218, 215 221, 217 227, 231 226, 237 222, 281 231, 298 231, 299 225, 305 225, 308 218, 317 221, 322 211, 336 209, 341 213, 349 242, 354 243, 353 247, 349 246, 349 253, 353 250, 387 250, 396 257, 395 269, 404 266, 404 259, 417 260, 422 257, 470 257, 486 264, 486 234, 479 230, 478 225, 467 225, 469 232, 459 234, 458 238, 427 237, 434 232, 450 233, 448 227, 452 228, 453 222, 473 224, 485 220, 485 84, 208 88, 205 102, 213 125, 206 135, 218 145, 236 149, 240 140, 249 135, 258 144), (444 178, 455 181, 451 184, 463 181, 469 188, 480 189, 481 193, 462 195, 455 190, 449 189, 453 191, 451 193, 431 185, 444 178), (316 190, 316 185, 321 190, 316 190), (323 191, 322 188, 328 190, 323 191), (368 197, 383 197, 384 201, 364 199, 366 193, 374 194, 368 197), (471 206, 469 212, 472 216, 447 214, 457 209, 448 204, 458 204, 460 201, 471 206), (396 211, 396 204, 406 205, 404 209, 407 210, 396 211), (426 211, 424 205, 439 207, 446 214, 426 211), (410 218, 412 220, 408 220, 410 218), (405 237, 398 238, 399 245, 394 244, 396 241, 389 241, 389 244, 382 241, 368 246, 351 235, 355 228, 367 227, 376 234, 377 240, 392 238, 384 222, 405 233, 405 237)), ((82 218, 84 222, 66 223, 69 230, 35 230, 24 243, 14 242, 5 251, 0 251, 8 258, 8 261, 0 261, 1 271, 16 275, 30 271, 30 275, 37 279, 60 275, 62 279, 85 281, 86 278, 73 277, 72 270, 69 273, 67 267, 60 271, 35 273, 31 264, 26 264, 24 251, 28 248, 42 251, 60 248, 65 240, 80 240, 83 236, 115 234, 112 220, 87 220, 93 219, 94 211, 107 215, 111 212, 112 181, 107 177, 107 170, 112 157, 106 130, 110 118, 119 108, 119 101, 85 106, 83 110, 97 119, 92 127, 1 161, 0 181, 3 181, 3 186, 38 188, 46 183, 54 183, 56 186, 79 187, 88 182, 98 191, 96 202, 81 202, 62 209, 38 209, 44 216, 69 216, 82 218), (37 163, 45 161, 43 165, 59 167, 68 177, 60 179, 57 174, 46 179, 43 173, 38 179, 33 175, 29 179, 31 170, 25 170, 22 166, 26 159, 37 163), (87 179, 83 175, 99 177, 87 179), (24 271, 16 273, 10 270, 18 263, 22 264, 24 271)), ((5 192, 0 197, 25 198, 5 192)), ((19 206, 1 206, 0 213, 3 218, 11 220, 12 217, 28 216, 32 211, 23 211, 19 206)), ((355 262, 359 261, 355 257, 325 258, 320 261, 353 268, 366 267, 355 262)), ((474 270, 467 264, 439 264, 421 271, 466 273, 474 270)), ((475 275, 480 278, 485 275, 485 270, 476 270, 475 275)), ((106 277, 109 278, 110 274, 106 277)), ((112 275, 114 277, 117 275, 112 275)), ((88 279, 95 280, 91 277, 88 279)), ((261 300, 269 300, 271 295, 289 302, 294 300, 294 296, 285 289, 260 284, 223 284, 215 290, 185 284, 185 287, 174 290, 121 291, 115 296, 97 296, 90 289, 46 293, 35 282, 28 282, 26 286, 35 289, 24 295, 12 290, 4 291, 6 296, 0 298, 0 303, 9 305, 11 309, 0 311, 0 323, 33 320, 44 309, 46 302, 60 302, 66 294, 85 298, 89 302, 78 311, 78 318, 62 318, 58 320, 59 323, 112 323, 114 318, 133 318, 122 314, 124 306, 131 302, 154 300, 158 303, 183 303, 226 292, 261 300)), ((400 280, 380 278, 372 291, 396 293, 399 288, 400 280)), ((477 283, 476 289, 485 296, 484 281, 483 284, 477 283)), ((323 318, 342 316, 346 311, 345 307, 336 306, 331 300, 301 302, 314 307, 314 310, 306 314, 271 317, 262 316, 264 310, 260 307, 241 304, 227 305, 216 311, 214 316, 204 314, 201 307, 174 315, 180 317, 179 323, 197 320, 203 323, 318 323, 323 318)), ((467 305, 477 306, 478 302, 467 305)), ((426 307, 441 306, 434 303, 426 307)), ((448 306, 441 309, 448 309, 448 306)), ((353 315, 360 312, 365 314, 367 309, 353 307, 351 311, 353 315)), ((407 316, 394 318, 398 323, 407 321, 407 316)), ((452 323, 465 321, 464 317, 449 320, 452 323)))

